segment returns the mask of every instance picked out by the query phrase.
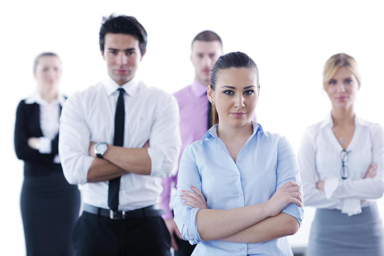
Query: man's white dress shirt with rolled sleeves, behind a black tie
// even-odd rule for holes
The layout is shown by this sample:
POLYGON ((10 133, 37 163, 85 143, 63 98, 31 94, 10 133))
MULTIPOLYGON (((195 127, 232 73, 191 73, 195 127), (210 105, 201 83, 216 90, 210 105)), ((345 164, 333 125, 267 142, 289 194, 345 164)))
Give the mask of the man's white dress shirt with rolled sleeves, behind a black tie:
POLYGON ((149 140, 151 175, 121 176, 119 210, 135 210, 159 203, 161 178, 176 171, 181 139, 176 99, 160 89, 132 79, 119 86, 107 76, 65 102, 60 118, 59 154, 65 178, 78 184, 84 203, 108 209, 109 181, 87 183, 91 142, 113 145, 119 88, 125 90, 125 148, 141 148, 149 140))

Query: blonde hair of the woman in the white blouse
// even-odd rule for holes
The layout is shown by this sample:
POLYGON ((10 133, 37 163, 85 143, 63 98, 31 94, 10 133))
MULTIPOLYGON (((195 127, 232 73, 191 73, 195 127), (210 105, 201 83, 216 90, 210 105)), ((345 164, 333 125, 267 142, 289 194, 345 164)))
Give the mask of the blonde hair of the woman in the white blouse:
POLYGON ((327 60, 327 62, 324 65, 324 71, 323 71, 323 88, 326 88, 326 85, 328 85, 329 81, 333 78, 336 71, 341 68, 346 67, 348 68, 356 77, 359 85, 361 84, 361 76, 358 69, 358 63, 356 60, 349 56, 346 53, 338 53, 331 58, 327 60))

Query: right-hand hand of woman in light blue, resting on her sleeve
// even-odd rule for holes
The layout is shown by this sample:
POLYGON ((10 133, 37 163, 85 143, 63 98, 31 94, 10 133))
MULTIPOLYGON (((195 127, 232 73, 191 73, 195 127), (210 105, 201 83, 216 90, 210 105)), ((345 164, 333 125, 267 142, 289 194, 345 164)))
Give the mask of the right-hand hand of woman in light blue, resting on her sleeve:
POLYGON ((290 203, 303 207, 303 198, 301 198, 300 185, 289 181, 276 190, 275 194, 265 204, 270 217, 274 217, 290 203))

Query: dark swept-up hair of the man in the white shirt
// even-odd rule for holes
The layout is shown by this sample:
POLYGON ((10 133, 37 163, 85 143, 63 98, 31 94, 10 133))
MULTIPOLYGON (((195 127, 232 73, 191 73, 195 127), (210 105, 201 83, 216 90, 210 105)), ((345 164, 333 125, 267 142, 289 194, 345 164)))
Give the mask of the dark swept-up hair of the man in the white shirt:
POLYGON ((99 32, 100 50, 104 51, 104 42, 106 33, 125 34, 137 36, 139 39, 139 48, 143 54, 147 47, 147 31, 144 27, 132 16, 114 16, 103 17, 99 32))

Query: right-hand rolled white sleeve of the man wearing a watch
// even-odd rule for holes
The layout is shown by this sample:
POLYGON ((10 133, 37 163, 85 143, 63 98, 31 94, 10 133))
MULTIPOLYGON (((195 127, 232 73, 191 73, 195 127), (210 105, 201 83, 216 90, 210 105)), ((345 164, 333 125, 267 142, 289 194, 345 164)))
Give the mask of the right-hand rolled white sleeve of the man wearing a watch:
POLYGON ((174 96, 167 94, 158 104, 147 150, 151 158, 151 176, 164 178, 177 170, 181 147, 180 116, 174 96))

